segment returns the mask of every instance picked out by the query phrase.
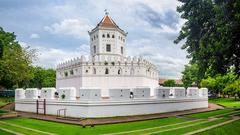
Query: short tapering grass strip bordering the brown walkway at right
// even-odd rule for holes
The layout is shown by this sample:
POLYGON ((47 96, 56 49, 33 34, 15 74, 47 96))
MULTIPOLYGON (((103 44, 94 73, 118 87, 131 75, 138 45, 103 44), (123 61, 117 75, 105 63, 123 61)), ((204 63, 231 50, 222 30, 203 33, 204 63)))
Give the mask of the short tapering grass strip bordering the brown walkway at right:
POLYGON ((199 119, 207 119, 209 117, 214 117, 217 115, 223 115, 233 112, 233 110, 216 110, 216 111, 210 111, 210 112, 203 112, 203 113, 196 113, 196 114, 190 114, 186 115, 187 117, 193 117, 193 118, 199 118, 199 119))

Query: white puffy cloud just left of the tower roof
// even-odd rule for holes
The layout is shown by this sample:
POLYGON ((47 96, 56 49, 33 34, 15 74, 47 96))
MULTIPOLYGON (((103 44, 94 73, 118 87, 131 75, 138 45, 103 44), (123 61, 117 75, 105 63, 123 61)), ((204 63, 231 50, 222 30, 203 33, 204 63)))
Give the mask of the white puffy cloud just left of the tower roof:
POLYGON ((87 38, 87 31, 93 28, 89 21, 84 19, 64 19, 59 23, 45 26, 44 30, 59 35, 69 35, 76 38, 87 38))

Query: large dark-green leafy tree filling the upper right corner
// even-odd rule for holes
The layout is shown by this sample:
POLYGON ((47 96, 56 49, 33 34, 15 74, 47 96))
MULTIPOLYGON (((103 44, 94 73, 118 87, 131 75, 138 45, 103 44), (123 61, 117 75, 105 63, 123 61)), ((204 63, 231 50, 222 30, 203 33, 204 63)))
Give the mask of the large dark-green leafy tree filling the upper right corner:
POLYGON ((177 8, 186 20, 178 38, 191 64, 199 67, 198 77, 225 74, 231 67, 240 75, 240 1, 179 0, 177 8))

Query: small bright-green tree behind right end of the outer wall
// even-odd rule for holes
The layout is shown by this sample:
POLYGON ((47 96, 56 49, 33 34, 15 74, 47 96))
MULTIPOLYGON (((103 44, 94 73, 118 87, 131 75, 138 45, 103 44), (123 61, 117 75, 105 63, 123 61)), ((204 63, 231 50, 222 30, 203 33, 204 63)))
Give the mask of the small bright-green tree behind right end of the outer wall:
POLYGON ((200 84, 199 68, 197 64, 186 65, 182 74, 184 87, 189 87, 193 83, 196 83, 197 85, 200 84))

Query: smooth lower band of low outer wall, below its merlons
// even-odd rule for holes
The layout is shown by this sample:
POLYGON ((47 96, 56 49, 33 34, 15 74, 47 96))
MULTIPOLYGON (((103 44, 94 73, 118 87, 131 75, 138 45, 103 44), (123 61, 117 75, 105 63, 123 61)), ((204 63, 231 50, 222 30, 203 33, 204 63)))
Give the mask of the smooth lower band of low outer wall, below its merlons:
MULTIPOLYGON (((41 104, 40 104, 41 106, 41 104)), ((153 114, 207 108, 208 98, 182 99, 130 99, 100 101, 46 100, 46 113, 57 114, 58 109, 67 109, 71 117, 113 117, 126 115, 153 114)), ((16 111, 36 112, 36 100, 16 100, 16 111)), ((43 110, 42 110, 43 111, 43 110)), ((41 113, 41 110, 39 111, 41 113)))

